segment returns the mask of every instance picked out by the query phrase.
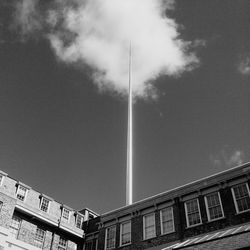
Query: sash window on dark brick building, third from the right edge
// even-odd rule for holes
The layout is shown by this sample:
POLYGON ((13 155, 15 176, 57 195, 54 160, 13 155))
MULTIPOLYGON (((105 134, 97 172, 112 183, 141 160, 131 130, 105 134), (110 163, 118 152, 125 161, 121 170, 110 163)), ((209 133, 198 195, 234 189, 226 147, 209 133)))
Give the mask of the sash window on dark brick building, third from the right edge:
POLYGON ((201 213, 198 199, 185 202, 187 226, 201 224, 201 213))

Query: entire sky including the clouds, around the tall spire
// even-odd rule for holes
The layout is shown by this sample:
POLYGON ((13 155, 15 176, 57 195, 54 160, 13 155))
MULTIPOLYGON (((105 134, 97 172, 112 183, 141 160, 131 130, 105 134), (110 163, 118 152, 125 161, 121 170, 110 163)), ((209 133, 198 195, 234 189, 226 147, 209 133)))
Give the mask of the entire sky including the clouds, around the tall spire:
POLYGON ((74 209, 250 161, 249 0, 2 0, 0 169, 74 209))

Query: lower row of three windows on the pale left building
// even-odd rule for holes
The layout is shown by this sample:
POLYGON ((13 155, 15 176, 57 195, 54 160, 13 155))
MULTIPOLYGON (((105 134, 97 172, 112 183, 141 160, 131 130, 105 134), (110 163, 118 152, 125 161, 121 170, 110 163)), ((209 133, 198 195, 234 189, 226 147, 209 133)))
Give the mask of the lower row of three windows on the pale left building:
MULTIPOLYGON (((19 236, 21 223, 22 223, 21 218, 19 218, 18 216, 15 216, 15 215, 12 217, 9 232, 10 232, 10 235, 16 239, 18 239, 18 236, 19 236)), ((44 241, 45 241, 45 236, 46 236, 46 231, 40 227, 37 227, 36 232, 35 232, 35 236, 34 236, 34 246, 42 249, 43 245, 44 245, 44 241)), ((67 239, 60 236, 57 249, 58 250, 66 250, 67 245, 68 245, 67 239)))

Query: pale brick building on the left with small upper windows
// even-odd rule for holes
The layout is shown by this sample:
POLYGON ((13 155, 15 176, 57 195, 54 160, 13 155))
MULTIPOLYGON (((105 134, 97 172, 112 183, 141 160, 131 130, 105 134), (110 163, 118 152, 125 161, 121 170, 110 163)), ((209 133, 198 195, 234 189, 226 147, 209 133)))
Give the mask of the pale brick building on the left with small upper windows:
POLYGON ((97 214, 76 211, 0 171, 0 249, 83 249, 83 222, 97 214))

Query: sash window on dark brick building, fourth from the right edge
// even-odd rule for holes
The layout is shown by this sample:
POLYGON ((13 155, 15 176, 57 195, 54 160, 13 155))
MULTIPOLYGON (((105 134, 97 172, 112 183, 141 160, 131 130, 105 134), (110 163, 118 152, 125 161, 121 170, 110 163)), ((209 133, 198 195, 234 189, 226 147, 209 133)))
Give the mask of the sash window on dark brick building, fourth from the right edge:
POLYGON ((174 232, 173 208, 167 207, 160 211, 161 215, 161 234, 174 232))

